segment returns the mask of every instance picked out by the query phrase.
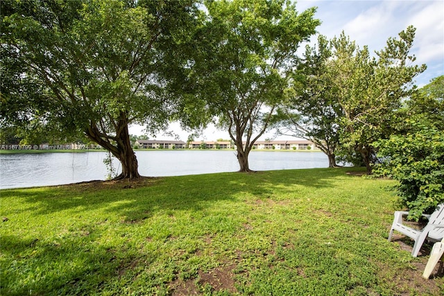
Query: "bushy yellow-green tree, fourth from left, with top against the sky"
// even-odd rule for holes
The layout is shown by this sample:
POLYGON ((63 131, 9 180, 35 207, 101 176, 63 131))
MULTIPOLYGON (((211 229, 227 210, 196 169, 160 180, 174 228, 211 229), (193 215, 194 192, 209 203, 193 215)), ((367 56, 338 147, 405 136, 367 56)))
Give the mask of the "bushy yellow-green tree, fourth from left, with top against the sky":
POLYGON ((337 59, 332 65, 338 87, 338 103, 343 110, 341 141, 347 148, 359 153, 368 173, 375 161, 374 141, 386 139, 394 132, 393 124, 402 100, 415 90, 413 78, 425 71, 425 64, 415 65, 410 54, 416 29, 409 26, 390 37, 386 47, 371 58, 364 47, 351 57, 341 55, 341 49, 350 44, 344 37, 333 40, 337 59))

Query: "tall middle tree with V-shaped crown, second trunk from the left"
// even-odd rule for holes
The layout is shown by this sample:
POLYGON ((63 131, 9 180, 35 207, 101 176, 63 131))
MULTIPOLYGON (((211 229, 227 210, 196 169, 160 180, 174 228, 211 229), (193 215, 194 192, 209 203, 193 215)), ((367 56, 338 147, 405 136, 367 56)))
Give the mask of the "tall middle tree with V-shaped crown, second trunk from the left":
POLYGON ((315 8, 298 13, 291 1, 206 1, 208 19, 199 31, 194 66, 200 98, 237 147, 241 172, 286 98, 289 73, 301 42, 320 21, 315 8))

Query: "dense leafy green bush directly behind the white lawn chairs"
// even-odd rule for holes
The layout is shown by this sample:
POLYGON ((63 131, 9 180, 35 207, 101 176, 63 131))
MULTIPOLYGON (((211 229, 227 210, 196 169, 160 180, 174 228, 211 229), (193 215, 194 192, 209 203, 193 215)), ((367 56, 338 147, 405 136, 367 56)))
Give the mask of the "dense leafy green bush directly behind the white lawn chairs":
POLYGON ((411 211, 409 218, 418 220, 444 202, 444 132, 416 125, 419 129, 407 136, 374 143, 382 159, 374 173, 400 182, 395 186, 400 202, 411 211))

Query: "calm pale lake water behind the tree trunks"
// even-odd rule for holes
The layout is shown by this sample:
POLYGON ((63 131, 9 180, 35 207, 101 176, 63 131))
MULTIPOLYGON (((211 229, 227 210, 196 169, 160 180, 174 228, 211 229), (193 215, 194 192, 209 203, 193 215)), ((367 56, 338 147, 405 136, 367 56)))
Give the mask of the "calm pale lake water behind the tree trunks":
MULTIPOLYGON (((105 180, 103 159, 108 153, 29 153, 0 155, 0 189, 69 184, 105 180)), ((139 173, 149 177, 197 175, 239 170, 234 150, 136 151, 139 173)), ((326 168, 321 152, 252 151, 250 168, 255 171, 294 168, 326 168)), ((114 167, 120 171, 119 162, 114 167)))

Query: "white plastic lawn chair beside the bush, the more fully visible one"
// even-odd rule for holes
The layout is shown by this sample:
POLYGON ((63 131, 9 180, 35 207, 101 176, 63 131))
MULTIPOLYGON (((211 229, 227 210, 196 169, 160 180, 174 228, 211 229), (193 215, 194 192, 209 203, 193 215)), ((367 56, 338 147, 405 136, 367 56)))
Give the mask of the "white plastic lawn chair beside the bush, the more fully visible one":
POLYGON ((418 230, 402 224, 402 216, 407 216, 408 211, 395 211, 395 219, 391 225, 390 234, 388 234, 388 241, 391 241, 393 231, 398 231, 415 241, 411 256, 418 256, 419 250, 427 239, 427 241, 438 242, 444 237, 444 204, 438 204, 432 215, 422 215, 429 219, 427 225, 418 230))

